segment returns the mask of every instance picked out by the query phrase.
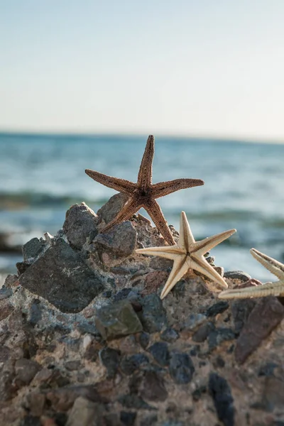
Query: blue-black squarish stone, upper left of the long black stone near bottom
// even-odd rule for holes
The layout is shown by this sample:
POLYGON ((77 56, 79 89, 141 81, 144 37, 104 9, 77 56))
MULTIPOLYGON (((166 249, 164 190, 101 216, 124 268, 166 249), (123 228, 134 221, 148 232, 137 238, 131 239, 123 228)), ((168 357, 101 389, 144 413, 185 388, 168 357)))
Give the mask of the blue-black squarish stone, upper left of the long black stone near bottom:
POLYGON ((170 376, 178 385, 190 383, 195 367, 188 354, 171 352, 170 354, 170 376))

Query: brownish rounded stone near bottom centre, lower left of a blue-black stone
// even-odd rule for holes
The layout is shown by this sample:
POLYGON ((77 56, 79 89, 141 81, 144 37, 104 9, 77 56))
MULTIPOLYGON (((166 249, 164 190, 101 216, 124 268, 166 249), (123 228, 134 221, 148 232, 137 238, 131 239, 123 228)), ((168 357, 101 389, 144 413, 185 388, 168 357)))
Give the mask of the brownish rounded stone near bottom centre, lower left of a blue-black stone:
POLYGON ((150 401, 164 401, 168 398, 163 378, 155 371, 146 371, 141 382, 140 393, 142 398, 150 401))

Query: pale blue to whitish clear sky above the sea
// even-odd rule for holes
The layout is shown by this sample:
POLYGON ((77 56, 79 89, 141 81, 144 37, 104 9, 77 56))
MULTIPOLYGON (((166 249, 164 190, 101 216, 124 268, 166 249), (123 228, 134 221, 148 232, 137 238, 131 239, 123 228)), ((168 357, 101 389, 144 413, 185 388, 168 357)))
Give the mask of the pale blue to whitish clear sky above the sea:
POLYGON ((0 0, 0 131, 284 141, 283 0, 0 0))

